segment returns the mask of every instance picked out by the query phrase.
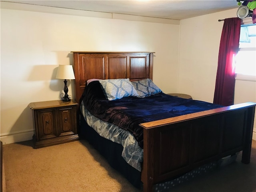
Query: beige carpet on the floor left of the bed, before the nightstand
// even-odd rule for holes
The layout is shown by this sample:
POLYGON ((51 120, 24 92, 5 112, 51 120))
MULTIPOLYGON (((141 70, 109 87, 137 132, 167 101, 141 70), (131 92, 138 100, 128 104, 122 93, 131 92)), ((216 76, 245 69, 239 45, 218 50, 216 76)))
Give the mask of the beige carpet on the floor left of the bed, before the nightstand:
POLYGON ((138 191, 86 141, 33 149, 32 141, 3 146, 7 192, 138 191))

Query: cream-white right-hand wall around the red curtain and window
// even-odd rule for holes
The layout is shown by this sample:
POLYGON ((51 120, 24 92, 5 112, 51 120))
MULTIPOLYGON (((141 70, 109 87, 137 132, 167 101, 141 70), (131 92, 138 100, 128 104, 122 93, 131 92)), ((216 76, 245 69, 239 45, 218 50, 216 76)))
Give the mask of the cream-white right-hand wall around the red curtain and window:
MULTIPOLYGON (((223 21, 237 9, 181 20, 178 92, 213 102, 223 21)), ((236 80, 234 104, 256 102, 256 82, 236 80)), ((256 140, 256 118, 254 120, 256 140)))

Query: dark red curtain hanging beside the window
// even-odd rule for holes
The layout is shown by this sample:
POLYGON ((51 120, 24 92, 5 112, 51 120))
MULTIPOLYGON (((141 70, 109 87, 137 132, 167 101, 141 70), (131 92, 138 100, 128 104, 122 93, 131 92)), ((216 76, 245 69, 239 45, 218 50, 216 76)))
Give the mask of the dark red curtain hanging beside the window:
POLYGON ((224 20, 213 100, 215 104, 223 106, 234 104, 235 69, 232 64, 239 48, 240 27, 240 18, 224 20))

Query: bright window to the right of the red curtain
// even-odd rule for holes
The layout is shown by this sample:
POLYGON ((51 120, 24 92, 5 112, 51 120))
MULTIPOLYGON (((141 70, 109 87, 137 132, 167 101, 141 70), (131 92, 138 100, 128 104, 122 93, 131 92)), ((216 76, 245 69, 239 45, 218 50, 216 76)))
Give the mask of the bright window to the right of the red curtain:
POLYGON ((235 58, 236 74, 256 76, 256 24, 241 25, 239 51, 235 58))

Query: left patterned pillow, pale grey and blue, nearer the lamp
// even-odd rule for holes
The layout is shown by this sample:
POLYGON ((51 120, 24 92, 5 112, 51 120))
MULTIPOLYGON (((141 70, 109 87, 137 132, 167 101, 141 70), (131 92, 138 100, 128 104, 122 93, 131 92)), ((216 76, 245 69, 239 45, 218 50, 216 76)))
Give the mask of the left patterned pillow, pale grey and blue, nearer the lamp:
POLYGON ((99 82, 102 84, 106 97, 110 101, 128 96, 138 96, 129 79, 106 79, 99 80, 99 82))

